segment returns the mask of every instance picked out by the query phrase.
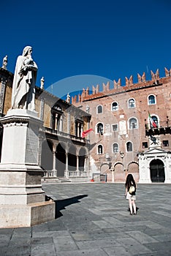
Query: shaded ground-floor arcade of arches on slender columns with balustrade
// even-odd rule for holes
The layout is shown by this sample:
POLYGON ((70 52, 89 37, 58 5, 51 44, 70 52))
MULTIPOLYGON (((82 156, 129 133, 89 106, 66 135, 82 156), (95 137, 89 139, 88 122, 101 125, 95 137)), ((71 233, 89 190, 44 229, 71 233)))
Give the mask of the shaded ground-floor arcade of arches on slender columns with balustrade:
POLYGON ((42 142, 41 167, 46 171, 46 176, 81 177, 87 176, 88 150, 85 147, 58 143, 53 140, 42 142))

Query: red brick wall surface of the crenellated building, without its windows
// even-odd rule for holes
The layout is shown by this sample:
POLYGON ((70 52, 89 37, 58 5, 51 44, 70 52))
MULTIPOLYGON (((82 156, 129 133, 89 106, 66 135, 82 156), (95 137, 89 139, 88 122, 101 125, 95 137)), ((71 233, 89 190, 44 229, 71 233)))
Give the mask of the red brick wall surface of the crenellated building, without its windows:
MULTIPOLYGON (((118 89, 109 89, 109 85, 107 85, 107 89, 103 86, 104 91, 97 90, 96 92, 94 90, 94 94, 91 95, 86 94, 84 91, 82 97, 80 97, 83 110, 86 110, 86 105, 88 105, 90 108, 89 113, 92 115, 90 128, 93 128, 94 131, 90 133, 89 138, 91 144, 95 143, 95 146, 90 151, 91 157, 94 158, 98 169, 100 169, 102 163, 112 162, 112 165, 115 166, 114 179, 116 182, 125 181, 126 170, 134 173, 136 181, 139 180, 137 153, 148 150, 148 148, 142 148, 142 142, 147 142, 149 147, 149 138, 145 136, 148 111, 151 115, 158 116, 160 122, 164 121, 166 123, 167 117, 168 120, 171 120, 171 77, 168 76, 168 73, 166 74, 166 78, 159 78, 159 72, 152 73, 152 80, 136 84, 132 84, 132 78, 130 78, 126 80, 126 86, 119 86, 118 89), (155 80, 155 75, 159 81, 155 80), (148 96, 150 94, 156 97, 155 105, 148 105, 148 96), (128 100, 130 98, 135 99, 135 108, 128 108, 128 100), (113 102, 118 102, 117 111, 111 111, 113 102), (96 113, 98 105, 102 105, 103 113, 96 113), (103 135, 96 133, 96 124, 99 122, 104 126, 110 124, 111 129, 112 124, 118 124, 121 120, 126 121, 127 126, 127 121, 132 117, 137 118, 138 129, 128 129, 126 127, 126 135, 120 135, 119 131, 110 132, 110 135, 106 135, 105 132, 103 135), (132 152, 126 152, 126 142, 128 141, 133 143, 132 152), (123 157, 119 152, 113 153, 113 143, 118 143, 119 151, 123 153, 123 157), (103 146, 103 154, 97 154, 97 146, 99 144, 103 146), (106 153, 110 155, 110 160, 106 159, 106 153)), ((112 87, 113 85, 110 86, 112 87)), ((80 102, 76 102, 76 98, 72 103, 75 105, 80 104, 80 102)), ((160 135, 160 138, 161 141, 169 140, 171 146, 170 134, 160 135)), ((164 147, 164 149, 168 150, 170 147, 164 147)), ((107 178, 108 181, 112 180, 110 170, 107 178)))

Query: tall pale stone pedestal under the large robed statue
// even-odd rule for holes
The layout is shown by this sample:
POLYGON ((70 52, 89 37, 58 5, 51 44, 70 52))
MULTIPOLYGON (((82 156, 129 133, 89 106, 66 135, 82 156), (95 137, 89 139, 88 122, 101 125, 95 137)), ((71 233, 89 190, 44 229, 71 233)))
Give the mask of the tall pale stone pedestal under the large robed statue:
POLYGON ((38 165, 42 121, 36 112, 22 109, 9 110, 0 121, 0 227, 29 227, 55 219, 55 203, 45 201, 38 165))

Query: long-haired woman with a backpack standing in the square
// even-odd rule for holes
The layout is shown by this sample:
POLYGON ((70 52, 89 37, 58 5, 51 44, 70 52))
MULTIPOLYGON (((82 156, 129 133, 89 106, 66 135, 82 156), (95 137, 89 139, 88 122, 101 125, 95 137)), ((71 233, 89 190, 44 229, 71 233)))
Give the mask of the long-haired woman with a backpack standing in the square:
POLYGON ((132 174, 128 174, 128 176, 126 177, 125 187, 126 187, 125 196, 126 196, 126 199, 129 200, 130 215, 132 215, 132 214, 137 215, 137 208, 135 205, 136 184, 135 184, 132 174), (134 213, 133 213, 133 210, 134 210, 134 213))

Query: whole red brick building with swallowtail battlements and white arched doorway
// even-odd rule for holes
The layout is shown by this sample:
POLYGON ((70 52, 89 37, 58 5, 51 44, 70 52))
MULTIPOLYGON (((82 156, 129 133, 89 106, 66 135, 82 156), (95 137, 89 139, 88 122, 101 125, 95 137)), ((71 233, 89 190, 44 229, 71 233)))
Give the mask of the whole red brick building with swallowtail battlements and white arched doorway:
POLYGON ((165 77, 151 71, 121 79, 113 85, 93 86, 72 97, 72 104, 83 105, 91 114, 88 136, 91 141, 91 170, 94 179, 107 173, 107 181, 124 182, 133 173, 141 183, 171 182, 171 69, 165 77))

